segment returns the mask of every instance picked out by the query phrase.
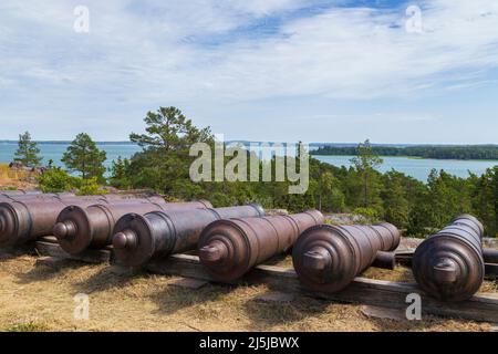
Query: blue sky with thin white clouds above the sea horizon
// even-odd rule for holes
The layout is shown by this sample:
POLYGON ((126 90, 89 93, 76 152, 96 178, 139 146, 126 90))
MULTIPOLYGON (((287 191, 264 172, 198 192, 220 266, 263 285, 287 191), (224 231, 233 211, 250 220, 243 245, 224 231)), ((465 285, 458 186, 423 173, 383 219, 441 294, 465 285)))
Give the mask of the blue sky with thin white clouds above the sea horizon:
POLYGON ((498 144, 496 0, 2 0, 0 139, 498 144))

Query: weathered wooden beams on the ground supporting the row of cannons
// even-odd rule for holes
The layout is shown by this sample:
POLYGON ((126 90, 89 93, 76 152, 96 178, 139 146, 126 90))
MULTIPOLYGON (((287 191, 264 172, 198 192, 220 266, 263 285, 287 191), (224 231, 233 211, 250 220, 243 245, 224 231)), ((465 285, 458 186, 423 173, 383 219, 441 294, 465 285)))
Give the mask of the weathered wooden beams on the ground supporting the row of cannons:
MULTIPOLYGON (((91 251, 83 256, 71 256, 59 244, 45 241, 37 242, 37 249, 43 256, 62 257, 84 262, 113 261, 111 250, 91 251)), ((167 259, 149 263, 146 270, 167 275, 198 279, 217 283, 191 254, 175 254, 167 259)), ((361 303, 372 306, 406 310, 409 303, 406 296, 417 293, 422 299, 422 312, 425 314, 457 317, 471 321, 498 322, 498 294, 479 293, 473 299, 448 303, 426 296, 414 283, 356 278, 353 283, 339 293, 317 293, 304 289, 292 269, 274 266, 258 266, 243 279, 229 284, 268 284, 272 291, 301 293, 307 296, 332 300, 344 303, 361 303)))

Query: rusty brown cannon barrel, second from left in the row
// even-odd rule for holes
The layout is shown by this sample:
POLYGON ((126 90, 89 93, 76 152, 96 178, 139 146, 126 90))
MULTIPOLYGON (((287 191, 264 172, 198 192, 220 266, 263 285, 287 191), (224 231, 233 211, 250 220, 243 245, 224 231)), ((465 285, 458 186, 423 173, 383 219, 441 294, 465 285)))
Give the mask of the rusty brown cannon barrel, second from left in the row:
POLYGON ((117 220, 126 214, 144 215, 151 211, 188 210, 211 208, 206 200, 188 202, 166 202, 160 197, 132 199, 116 204, 96 204, 86 208, 69 206, 58 217, 53 233, 61 248, 77 254, 92 248, 98 249, 112 243, 117 220))

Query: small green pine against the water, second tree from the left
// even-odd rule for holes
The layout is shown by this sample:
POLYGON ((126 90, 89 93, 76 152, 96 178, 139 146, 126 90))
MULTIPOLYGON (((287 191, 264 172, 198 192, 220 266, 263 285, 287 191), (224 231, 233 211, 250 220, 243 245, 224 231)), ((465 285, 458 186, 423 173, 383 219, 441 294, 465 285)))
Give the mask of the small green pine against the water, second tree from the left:
POLYGON ((69 169, 81 173, 83 179, 96 177, 102 183, 105 159, 106 153, 97 148, 90 135, 81 133, 68 147, 61 160, 69 169))

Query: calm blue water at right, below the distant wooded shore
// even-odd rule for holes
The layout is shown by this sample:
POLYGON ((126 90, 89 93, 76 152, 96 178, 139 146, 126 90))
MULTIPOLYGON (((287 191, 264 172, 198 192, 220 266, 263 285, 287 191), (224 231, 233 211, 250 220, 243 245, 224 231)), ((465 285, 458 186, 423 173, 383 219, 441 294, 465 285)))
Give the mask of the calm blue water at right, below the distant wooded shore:
MULTIPOLYGON (((315 156, 317 159, 334 166, 351 166, 351 159, 354 156, 315 156)), ((378 168, 380 171, 396 169, 405 175, 412 176, 422 181, 426 181, 430 169, 444 169, 448 174, 458 177, 468 177, 468 171, 478 176, 483 175, 487 168, 498 165, 498 162, 488 160, 458 160, 458 159, 429 159, 429 158, 408 158, 408 157, 382 157, 384 164, 378 168)))

